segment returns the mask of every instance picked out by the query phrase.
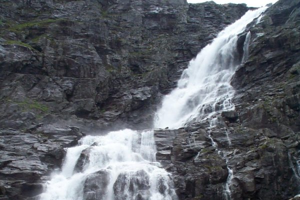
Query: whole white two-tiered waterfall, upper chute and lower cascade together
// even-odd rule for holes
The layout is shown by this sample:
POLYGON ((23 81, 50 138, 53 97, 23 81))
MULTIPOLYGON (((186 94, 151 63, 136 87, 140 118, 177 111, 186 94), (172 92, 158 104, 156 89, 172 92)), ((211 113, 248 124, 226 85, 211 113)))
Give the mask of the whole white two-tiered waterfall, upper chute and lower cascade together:
MULTIPOLYGON (((212 123, 217 113, 234 108, 229 80, 241 59, 237 58, 237 35, 264 10, 248 11, 190 61, 177 88, 163 99, 155 127, 177 128, 206 118, 212 123)), ((248 42, 250 33, 246 37, 248 42)), ((211 141, 216 146, 212 137, 211 141)), ((155 151, 153 130, 123 129, 103 136, 87 135, 77 146, 67 148, 61 171, 46 182, 40 199, 177 199, 170 174, 155 161, 155 151)))

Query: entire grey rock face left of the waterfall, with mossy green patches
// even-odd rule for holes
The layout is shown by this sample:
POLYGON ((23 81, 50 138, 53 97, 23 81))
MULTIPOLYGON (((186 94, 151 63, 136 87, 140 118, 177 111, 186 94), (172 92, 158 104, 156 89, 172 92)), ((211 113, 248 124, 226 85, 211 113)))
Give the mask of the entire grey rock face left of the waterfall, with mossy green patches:
POLYGON ((187 62, 248 8, 0 2, 0 199, 34 199, 82 133, 150 127, 187 62), (70 125, 70 126, 67 126, 70 125))

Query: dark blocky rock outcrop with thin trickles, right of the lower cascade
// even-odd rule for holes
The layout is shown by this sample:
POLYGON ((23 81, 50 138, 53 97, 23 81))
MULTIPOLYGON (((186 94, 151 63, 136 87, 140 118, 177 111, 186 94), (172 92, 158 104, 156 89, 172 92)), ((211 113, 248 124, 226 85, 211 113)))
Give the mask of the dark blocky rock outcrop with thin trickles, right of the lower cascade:
POLYGON ((276 138, 267 128, 251 129, 239 123, 228 127, 221 118, 213 128, 192 125, 191 130, 154 133, 156 158, 173 174, 179 199, 286 199, 297 194, 297 178, 287 163, 295 162, 298 146, 294 141, 299 135, 276 138), (174 138, 172 144, 163 143, 161 135, 168 142, 174 138), (169 154, 161 156, 166 150, 169 154))

